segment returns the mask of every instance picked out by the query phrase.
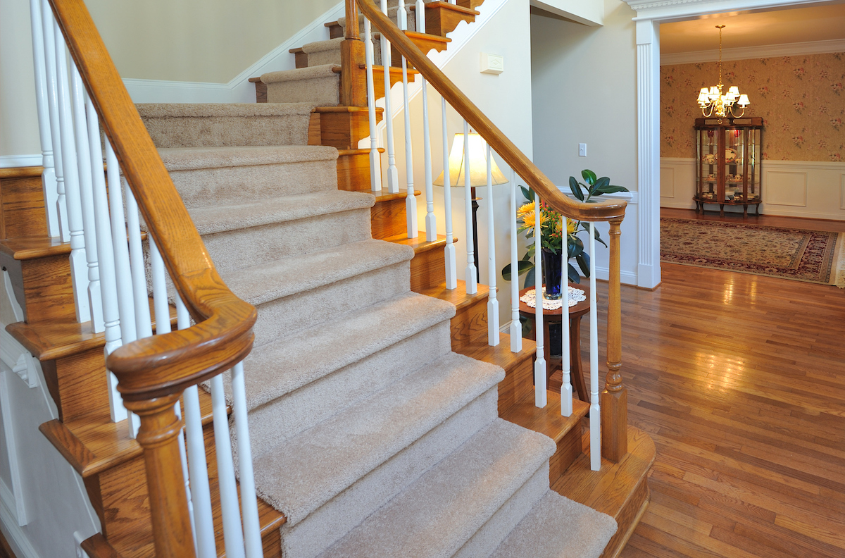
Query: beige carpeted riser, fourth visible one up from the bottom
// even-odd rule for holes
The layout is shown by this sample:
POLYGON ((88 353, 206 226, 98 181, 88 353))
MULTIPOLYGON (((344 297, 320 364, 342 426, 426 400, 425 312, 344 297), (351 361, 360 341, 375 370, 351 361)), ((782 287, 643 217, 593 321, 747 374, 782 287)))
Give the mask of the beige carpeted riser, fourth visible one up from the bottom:
POLYGON ((407 293, 409 276, 402 262, 260 304, 254 347, 407 293))

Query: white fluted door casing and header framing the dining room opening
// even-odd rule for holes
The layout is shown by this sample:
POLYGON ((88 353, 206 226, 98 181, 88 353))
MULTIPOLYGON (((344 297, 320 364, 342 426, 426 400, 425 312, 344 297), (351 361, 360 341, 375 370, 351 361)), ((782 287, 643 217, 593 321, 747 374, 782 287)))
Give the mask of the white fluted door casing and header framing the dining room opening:
POLYGON ((660 24, 706 14, 802 6, 814 0, 625 0, 635 10, 637 167, 640 192, 637 285, 660 284, 660 24))

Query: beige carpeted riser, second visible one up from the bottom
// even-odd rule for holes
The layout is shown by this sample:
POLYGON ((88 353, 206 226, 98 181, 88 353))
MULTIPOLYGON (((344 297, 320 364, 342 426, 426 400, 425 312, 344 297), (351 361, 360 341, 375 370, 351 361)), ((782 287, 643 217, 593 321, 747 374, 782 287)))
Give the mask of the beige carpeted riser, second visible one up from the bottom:
POLYGON ((405 450, 336 495, 293 528, 284 525, 282 554, 313 558, 425 471, 493 421, 495 388, 486 391, 405 450))

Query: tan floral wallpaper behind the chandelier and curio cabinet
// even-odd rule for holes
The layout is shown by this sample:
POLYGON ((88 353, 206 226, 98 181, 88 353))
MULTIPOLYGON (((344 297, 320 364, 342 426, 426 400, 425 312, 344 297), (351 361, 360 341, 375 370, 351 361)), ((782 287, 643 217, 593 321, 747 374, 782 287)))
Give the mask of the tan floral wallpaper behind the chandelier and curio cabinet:
MULTIPOLYGON (((718 77, 715 62, 661 66, 661 156, 695 157, 695 100, 718 77)), ((722 79, 749 96, 745 116, 763 118, 764 159, 845 160, 845 52, 729 60, 722 79)))

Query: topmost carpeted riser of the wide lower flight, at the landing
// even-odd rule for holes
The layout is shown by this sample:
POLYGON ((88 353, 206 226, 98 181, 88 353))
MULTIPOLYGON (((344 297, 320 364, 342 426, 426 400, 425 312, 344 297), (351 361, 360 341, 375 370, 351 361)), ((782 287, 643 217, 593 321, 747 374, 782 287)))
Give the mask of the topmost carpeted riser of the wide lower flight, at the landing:
MULTIPOLYGON (((270 102, 297 101, 273 101, 270 98, 270 102)), ((308 145, 309 118, 308 114, 297 114, 254 118, 148 117, 143 120, 156 147, 237 147, 308 145)))

